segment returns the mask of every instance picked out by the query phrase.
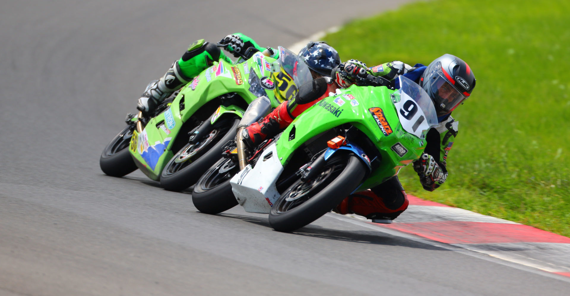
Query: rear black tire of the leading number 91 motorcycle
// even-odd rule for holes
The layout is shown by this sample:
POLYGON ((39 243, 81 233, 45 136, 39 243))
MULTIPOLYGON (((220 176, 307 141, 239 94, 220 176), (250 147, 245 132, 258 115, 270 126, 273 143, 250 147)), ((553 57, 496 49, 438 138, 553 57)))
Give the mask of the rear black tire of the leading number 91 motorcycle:
POLYGON ((192 202, 202 213, 217 214, 238 205, 230 180, 239 172, 231 159, 220 159, 194 185, 192 202))

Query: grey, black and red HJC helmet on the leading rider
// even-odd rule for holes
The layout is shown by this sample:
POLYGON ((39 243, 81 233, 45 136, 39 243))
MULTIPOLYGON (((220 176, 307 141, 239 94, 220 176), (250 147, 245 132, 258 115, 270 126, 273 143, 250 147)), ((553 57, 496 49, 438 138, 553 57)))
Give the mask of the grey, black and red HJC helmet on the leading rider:
POLYGON ((437 116, 453 111, 475 88, 475 75, 457 56, 445 54, 431 62, 420 79, 435 105, 437 116))

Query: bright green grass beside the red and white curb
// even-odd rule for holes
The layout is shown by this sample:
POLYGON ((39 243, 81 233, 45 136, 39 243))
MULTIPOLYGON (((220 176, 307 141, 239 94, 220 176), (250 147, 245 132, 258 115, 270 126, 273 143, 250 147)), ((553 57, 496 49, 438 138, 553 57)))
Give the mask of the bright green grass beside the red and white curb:
POLYGON ((324 39, 368 66, 469 63, 477 86, 453 113, 447 182, 427 192, 409 167, 406 191, 570 237, 570 1, 418 2, 324 39))

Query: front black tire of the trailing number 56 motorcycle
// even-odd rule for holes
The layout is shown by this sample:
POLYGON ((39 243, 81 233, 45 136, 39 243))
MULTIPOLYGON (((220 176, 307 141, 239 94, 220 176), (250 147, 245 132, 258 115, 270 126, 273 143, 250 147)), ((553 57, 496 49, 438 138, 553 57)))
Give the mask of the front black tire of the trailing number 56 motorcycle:
MULTIPOLYGON (((221 156, 223 145, 235 138, 235 129, 239 125, 239 117, 227 117, 220 121, 213 131, 217 134, 212 136, 207 144, 198 144, 196 155, 190 157, 184 163, 177 163, 176 160, 189 150, 192 145, 187 144, 178 151, 166 164, 160 174, 160 185, 170 191, 182 191, 196 183, 198 178, 210 168, 221 156)), ((210 134, 211 135, 211 134, 210 134)))

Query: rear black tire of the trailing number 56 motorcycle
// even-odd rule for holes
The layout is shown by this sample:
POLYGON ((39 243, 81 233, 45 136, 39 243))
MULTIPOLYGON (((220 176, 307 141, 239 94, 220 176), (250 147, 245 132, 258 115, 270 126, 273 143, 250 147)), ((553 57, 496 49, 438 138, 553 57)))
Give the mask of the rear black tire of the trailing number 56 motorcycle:
POLYGON ((129 152, 129 143, 133 136, 133 126, 127 125, 107 144, 99 159, 99 166, 105 175, 123 177, 137 169, 129 152))

